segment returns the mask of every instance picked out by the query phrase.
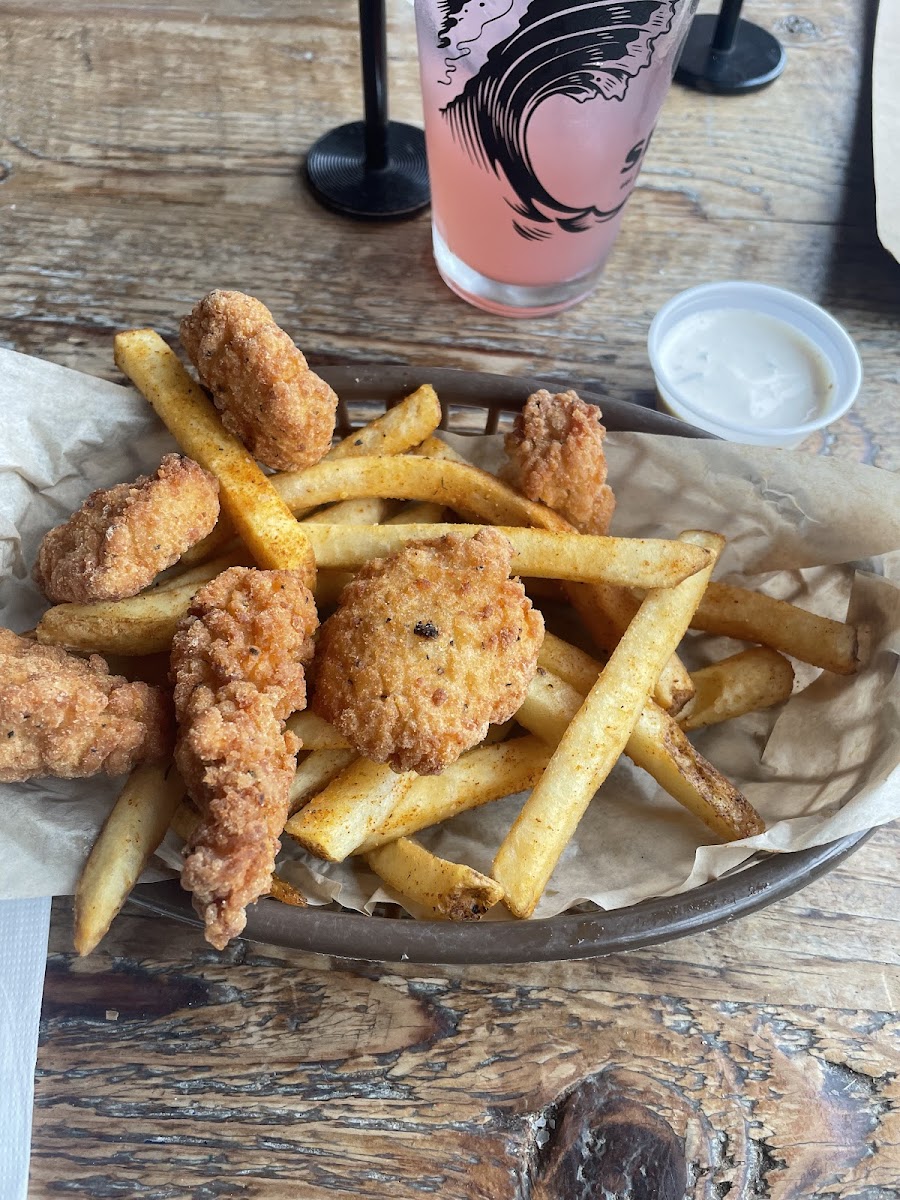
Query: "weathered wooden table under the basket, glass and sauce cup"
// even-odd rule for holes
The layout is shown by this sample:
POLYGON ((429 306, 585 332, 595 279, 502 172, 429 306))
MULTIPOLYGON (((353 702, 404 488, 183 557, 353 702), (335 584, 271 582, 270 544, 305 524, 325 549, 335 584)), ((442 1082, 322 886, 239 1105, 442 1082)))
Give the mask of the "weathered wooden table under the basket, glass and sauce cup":
MULTIPOLYGON (((360 112, 349 0, 0 0, 0 342, 115 378, 116 328, 174 337, 206 289, 240 287, 313 362, 539 374, 646 402, 654 311, 755 278, 827 305, 863 356, 858 404, 804 452, 896 469, 875 5, 748 7, 787 47, 782 79, 740 100, 676 89, 595 295, 514 322, 440 284, 427 216, 355 224, 299 180, 314 138, 360 112)), ((392 112, 416 120, 412 11, 390 17, 392 112)), ((78 961, 60 901, 29 1195, 568 1200, 624 1195, 608 1164, 634 1150, 647 1174, 628 1194, 648 1200, 898 1196, 898 845, 882 830, 734 925, 542 966, 220 954, 137 911, 78 961)))

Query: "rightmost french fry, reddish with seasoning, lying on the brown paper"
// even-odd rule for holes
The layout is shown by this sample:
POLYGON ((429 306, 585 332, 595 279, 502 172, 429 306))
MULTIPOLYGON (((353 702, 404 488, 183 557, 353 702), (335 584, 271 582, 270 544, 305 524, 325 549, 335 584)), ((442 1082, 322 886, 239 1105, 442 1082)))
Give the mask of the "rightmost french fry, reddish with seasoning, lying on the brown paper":
POLYGON ((859 636, 853 625, 728 583, 709 584, 691 629, 760 642, 836 674, 854 674, 859 670, 859 636))

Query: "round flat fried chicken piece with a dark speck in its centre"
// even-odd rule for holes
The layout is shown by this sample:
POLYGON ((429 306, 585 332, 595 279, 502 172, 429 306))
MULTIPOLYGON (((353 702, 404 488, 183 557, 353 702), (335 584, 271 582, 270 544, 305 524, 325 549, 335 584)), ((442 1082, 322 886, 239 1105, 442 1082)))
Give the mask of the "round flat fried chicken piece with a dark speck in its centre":
POLYGON ((544 622, 496 529, 367 563, 322 626, 311 707, 395 770, 438 774, 524 700, 544 622))

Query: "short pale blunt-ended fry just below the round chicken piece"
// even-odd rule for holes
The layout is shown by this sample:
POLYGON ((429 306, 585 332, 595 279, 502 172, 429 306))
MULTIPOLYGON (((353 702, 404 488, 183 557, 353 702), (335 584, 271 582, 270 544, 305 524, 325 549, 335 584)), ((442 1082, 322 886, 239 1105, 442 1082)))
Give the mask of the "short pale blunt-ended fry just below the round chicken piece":
POLYGON ((289 818, 284 833, 311 854, 341 863, 378 828, 415 778, 412 772, 398 775, 383 763, 356 758, 289 818))

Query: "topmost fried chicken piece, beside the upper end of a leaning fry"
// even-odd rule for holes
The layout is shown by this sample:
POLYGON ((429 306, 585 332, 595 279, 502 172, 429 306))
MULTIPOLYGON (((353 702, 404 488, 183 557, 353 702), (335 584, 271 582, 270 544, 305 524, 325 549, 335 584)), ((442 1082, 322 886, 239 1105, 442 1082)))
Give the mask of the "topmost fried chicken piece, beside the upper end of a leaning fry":
POLYGON ((328 451, 337 396, 259 300, 210 292, 182 319, 181 344, 224 427, 266 467, 311 467, 328 451))

